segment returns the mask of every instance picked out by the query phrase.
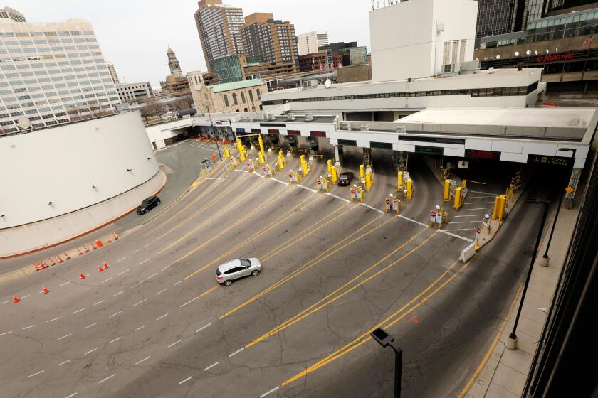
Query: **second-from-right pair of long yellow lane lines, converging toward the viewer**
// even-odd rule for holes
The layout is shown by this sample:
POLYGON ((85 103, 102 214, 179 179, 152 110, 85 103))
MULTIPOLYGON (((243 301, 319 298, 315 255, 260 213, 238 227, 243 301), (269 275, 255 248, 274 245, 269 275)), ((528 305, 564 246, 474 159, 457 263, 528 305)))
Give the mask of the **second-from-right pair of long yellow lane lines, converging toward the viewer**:
POLYGON ((320 298, 319 301, 317 301, 316 303, 313 303, 308 308, 305 308, 305 310, 303 310, 300 313, 296 314, 295 316, 293 316, 293 318, 290 318, 288 321, 285 321, 285 322, 281 323, 279 326, 276 326, 276 328, 273 328, 268 333, 265 333, 265 334, 261 335, 261 337, 256 338, 256 340, 253 340, 251 343, 247 344, 245 346, 245 348, 249 348, 252 345, 255 345, 255 344, 257 344, 257 343, 265 340, 266 338, 270 337, 271 335, 275 335, 276 333, 280 332, 280 330, 284 330, 284 329, 288 328, 289 326, 293 325, 294 323, 297 323, 297 322, 301 321, 303 318, 306 318, 306 317, 310 316, 312 313, 315 313, 315 311, 319 311, 320 309, 324 308, 328 304, 334 303, 335 301, 337 301, 342 296, 345 296, 345 294, 348 294, 351 291, 354 291, 358 287, 360 287, 363 284, 367 283, 368 281, 371 281, 372 279, 374 279, 376 276, 379 276, 380 274, 382 274, 382 272, 387 271, 387 269, 389 269, 391 267, 394 267, 399 262, 402 262, 404 259, 406 259, 406 257, 409 257, 411 254, 413 254, 414 252, 416 252, 420 247, 422 247, 424 244, 426 244, 429 240, 431 240, 431 238, 434 237, 434 235, 436 235, 436 231, 434 231, 432 233, 432 235, 430 235, 426 240, 424 240, 424 242, 421 242, 416 247, 414 247, 414 249, 409 250, 409 252, 406 252, 406 254, 403 254, 401 257, 399 257, 399 259, 397 259, 394 262, 388 264, 387 267, 384 267, 384 268, 380 269, 375 274, 372 274, 372 275, 368 276, 366 279, 364 279, 360 283, 355 284, 355 286, 352 286, 351 289, 347 289, 346 291, 342 292, 342 294, 339 294, 338 296, 332 298, 330 301, 327 301, 328 298, 334 296, 335 294, 337 294, 342 289, 345 289, 345 287, 347 287, 350 284, 356 282, 357 279, 359 279, 360 277, 364 276, 364 274, 367 274, 367 272, 369 272, 372 269, 374 269, 374 267, 377 267, 379 264, 381 264, 382 262, 384 262, 390 256, 392 256, 393 254, 395 254, 396 252, 398 252, 400 249, 402 249, 403 247, 405 247, 407 244, 409 244, 409 242, 411 242, 412 240, 414 240, 416 237, 418 237, 422 232, 424 232, 427 229, 428 229, 427 227, 423 228, 422 230, 420 230, 419 232, 417 232, 415 235, 413 235, 411 238, 409 238, 409 240, 407 240, 406 242, 404 242, 403 244, 401 244, 399 247, 397 247, 397 249, 394 249, 392 252, 390 252, 389 254, 387 254, 386 256, 384 256, 382 259, 380 259, 378 262, 376 262, 375 264, 373 264, 371 267, 369 267, 368 269, 366 269, 365 271, 363 271, 361 274, 355 276, 355 278, 351 279, 346 284, 340 286, 340 288, 336 289, 335 291, 332 291, 332 293, 327 294, 326 296, 320 298), (322 303, 324 301, 326 301, 326 302, 322 303))

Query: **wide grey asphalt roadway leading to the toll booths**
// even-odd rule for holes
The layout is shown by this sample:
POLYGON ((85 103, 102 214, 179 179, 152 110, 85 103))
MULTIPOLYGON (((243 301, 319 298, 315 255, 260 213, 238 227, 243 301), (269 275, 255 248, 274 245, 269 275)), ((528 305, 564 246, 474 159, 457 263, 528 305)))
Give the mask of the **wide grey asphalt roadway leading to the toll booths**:
MULTIPOLYGON (((410 161, 401 217, 381 210, 396 181, 386 157, 374 153, 363 204, 346 187, 315 192, 326 158, 301 186, 286 183, 298 156, 274 178, 219 168, 105 249, 3 284, 2 395, 390 397, 376 326, 402 342, 404 397, 458 394, 513 299, 533 224, 510 217, 462 264, 469 242, 426 225, 441 186, 423 162, 410 161), (216 266, 238 257, 263 271, 216 284, 216 266)), ((345 156, 343 168, 358 175, 359 163, 345 156)))

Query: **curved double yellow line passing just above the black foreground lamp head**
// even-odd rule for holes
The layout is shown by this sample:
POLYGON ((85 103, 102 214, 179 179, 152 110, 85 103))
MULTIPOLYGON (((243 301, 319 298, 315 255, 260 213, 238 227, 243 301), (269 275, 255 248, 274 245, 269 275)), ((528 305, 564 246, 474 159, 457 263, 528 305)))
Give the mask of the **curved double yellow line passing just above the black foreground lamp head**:
POLYGON ((446 284, 449 284, 450 281, 452 281, 458 274, 461 273, 461 271, 463 271, 463 269, 466 269, 466 267, 468 267, 468 265, 471 263, 471 259, 466 262, 465 264, 463 264, 463 266, 458 269, 458 271, 456 271, 455 274, 453 274, 452 276, 449 277, 449 279, 446 279, 446 281, 444 281, 443 284, 441 284, 439 287, 437 287, 434 291, 432 291, 428 296, 426 296, 425 298, 423 298, 419 303, 416 303, 416 305, 414 305, 413 307, 409 308, 409 310, 407 310, 405 313, 403 313, 401 316, 399 316, 397 319, 395 319, 394 321, 389 322, 390 320, 392 320, 392 318, 394 318, 395 316, 397 316, 397 314, 401 313, 402 311, 404 311, 407 307, 411 306, 412 303, 414 303, 415 301, 417 301, 421 296, 424 296, 424 294, 426 294, 427 291, 429 291, 430 289, 432 289, 434 287, 434 285, 436 285, 442 278, 444 278, 444 276, 446 276, 446 274, 449 273, 449 271, 451 269, 453 269, 453 267, 455 266, 455 264, 457 264, 459 260, 456 260, 455 262, 453 262, 453 264, 451 264, 451 267, 449 267, 449 269, 446 269, 446 271, 444 271, 444 273, 441 274, 441 276, 438 277, 438 279, 436 279, 434 282, 432 282, 432 284, 430 284, 426 289, 424 289, 424 291, 421 291, 421 293, 419 293, 417 296, 415 296, 414 298, 411 299, 411 301, 409 301, 409 303, 406 303, 404 306, 402 306, 401 308, 399 308, 399 310, 395 311, 394 313, 392 313, 391 316, 387 317, 386 319, 384 319, 384 321, 378 323, 376 326, 370 328, 369 330, 367 330, 366 333, 363 333, 362 335, 360 335, 358 338, 355 338, 355 340, 352 340, 350 343, 343 345, 341 348, 339 348, 338 350, 336 350, 334 353, 328 355, 327 357, 323 358, 322 360, 316 362, 314 365, 308 367, 307 369, 303 370, 302 372, 299 372, 297 375, 290 377, 290 379, 285 380, 285 382, 280 384, 280 387, 284 387, 285 385, 294 382, 295 380, 298 380, 300 377, 303 377, 305 375, 308 375, 309 373, 318 370, 320 367, 325 366, 327 364, 329 364, 332 361, 337 360, 338 358, 342 357, 343 355, 350 353, 352 350, 355 350, 355 348, 359 347, 360 345, 366 343, 371 336, 369 335, 369 333, 372 333, 372 331, 376 330, 377 328, 380 327, 384 327, 384 328, 389 328, 390 326, 394 325, 395 323, 397 323, 398 321, 400 321, 402 318, 404 318, 405 316, 409 315, 409 313, 411 313, 412 311, 414 311, 416 308, 418 308, 419 306, 421 306, 423 303, 425 303, 426 301, 429 300, 429 298, 431 298, 432 296, 434 296, 436 293, 438 293, 441 289, 444 288, 444 286, 446 286, 446 284), (386 324, 384 326, 384 324, 386 324))

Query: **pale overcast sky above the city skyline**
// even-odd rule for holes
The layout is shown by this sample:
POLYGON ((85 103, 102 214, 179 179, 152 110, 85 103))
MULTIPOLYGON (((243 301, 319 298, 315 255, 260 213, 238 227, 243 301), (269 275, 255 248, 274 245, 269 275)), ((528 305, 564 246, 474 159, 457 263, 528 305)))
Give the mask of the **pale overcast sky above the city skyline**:
MULTIPOLYGON (((369 50, 370 0, 224 0, 243 14, 271 12, 295 24, 295 33, 328 31, 330 42, 357 41, 369 50)), ((28 22, 83 18, 93 23, 105 58, 122 82, 159 81, 169 74, 170 45, 183 72, 206 70, 193 13, 194 0, 25 0, 5 4, 19 9, 28 22)))

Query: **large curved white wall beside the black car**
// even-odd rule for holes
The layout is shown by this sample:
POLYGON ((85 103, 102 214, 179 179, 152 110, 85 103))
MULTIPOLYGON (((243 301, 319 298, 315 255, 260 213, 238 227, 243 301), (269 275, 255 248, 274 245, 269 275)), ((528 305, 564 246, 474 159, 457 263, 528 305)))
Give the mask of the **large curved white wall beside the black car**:
POLYGON ((27 235, 15 231, 33 223, 53 220, 56 230, 32 230, 43 236, 26 239, 27 250, 120 217, 157 190, 161 174, 138 112, 0 138, 0 256, 20 252, 10 245, 27 235), (74 217, 95 205, 103 210, 74 217))

